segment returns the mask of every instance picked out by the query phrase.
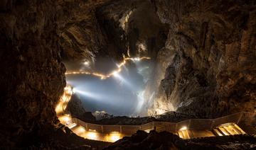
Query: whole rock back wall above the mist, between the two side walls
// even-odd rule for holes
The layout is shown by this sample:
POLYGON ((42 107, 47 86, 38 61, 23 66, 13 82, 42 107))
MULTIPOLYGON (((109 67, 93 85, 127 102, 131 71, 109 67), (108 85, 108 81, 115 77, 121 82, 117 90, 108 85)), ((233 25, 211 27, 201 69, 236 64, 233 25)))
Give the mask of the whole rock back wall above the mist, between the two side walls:
POLYGON ((69 1, 61 6, 60 46, 67 61, 156 57, 164 47, 168 25, 161 23, 150 1, 69 1))

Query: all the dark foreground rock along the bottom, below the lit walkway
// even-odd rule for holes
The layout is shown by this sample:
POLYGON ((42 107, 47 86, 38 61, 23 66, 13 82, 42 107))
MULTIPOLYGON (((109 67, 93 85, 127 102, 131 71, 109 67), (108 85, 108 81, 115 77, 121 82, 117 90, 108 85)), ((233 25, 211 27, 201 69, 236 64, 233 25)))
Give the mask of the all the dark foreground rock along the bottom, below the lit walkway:
POLYGON ((117 142, 108 143, 83 139, 64 127, 51 132, 50 137, 46 139, 43 138, 40 144, 28 146, 26 149, 256 149, 256 137, 246 134, 181 139, 169 132, 155 132, 152 130, 146 133, 139 130, 132 137, 124 137, 117 142))

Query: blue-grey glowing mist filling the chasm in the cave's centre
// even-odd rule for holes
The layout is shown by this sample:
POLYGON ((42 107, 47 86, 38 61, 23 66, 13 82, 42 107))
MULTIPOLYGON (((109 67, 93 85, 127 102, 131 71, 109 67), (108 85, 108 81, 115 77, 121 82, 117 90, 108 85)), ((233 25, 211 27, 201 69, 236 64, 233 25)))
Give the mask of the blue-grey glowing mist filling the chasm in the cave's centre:
MULTIPOLYGON (((117 69, 118 64, 112 59, 100 59, 94 67, 85 62, 65 62, 67 71, 90 71, 110 74, 117 69), (93 71, 92 71, 93 68, 93 71)), ((129 60, 117 74, 107 79, 100 79, 90 74, 72 74, 66 76, 67 83, 82 100, 85 110, 94 113, 105 111, 114 116, 131 117, 146 116, 146 100, 144 91, 151 75, 153 62, 151 60, 129 60)))

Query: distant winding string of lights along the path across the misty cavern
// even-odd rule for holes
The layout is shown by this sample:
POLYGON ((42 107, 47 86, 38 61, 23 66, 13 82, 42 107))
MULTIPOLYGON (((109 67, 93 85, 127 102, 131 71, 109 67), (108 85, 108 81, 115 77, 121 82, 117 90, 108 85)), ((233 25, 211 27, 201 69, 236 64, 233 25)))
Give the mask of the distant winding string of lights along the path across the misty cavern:
POLYGON ((124 60, 120 64, 117 64, 117 69, 112 71, 110 74, 100 74, 100 73, 97 73, 97 72, 90 72, 90 71, 71 71, 71 72, 66 72, 65 75, 88 74, 88 75, 96 76, 96 77, 104 80, 104 79, 110 78, 111 76, 114 76, 118 72, 122 71, 122 67, 127 63, 128 60, 132 60, 133 62, 138 62, 142 59, 151 59, 151 58, 150 57, 135 57, 135 58, 124 57, 124 60))

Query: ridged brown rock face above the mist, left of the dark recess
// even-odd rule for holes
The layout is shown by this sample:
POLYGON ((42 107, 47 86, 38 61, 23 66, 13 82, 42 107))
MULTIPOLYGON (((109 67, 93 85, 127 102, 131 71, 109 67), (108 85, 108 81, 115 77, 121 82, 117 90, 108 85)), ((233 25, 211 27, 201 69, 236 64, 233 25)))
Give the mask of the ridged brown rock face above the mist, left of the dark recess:
POLYGON ((60 1, 62 11, 58 20, 63 59, 95 61, 95 54, 106 45, 95 8, 107 1, 60 1))

